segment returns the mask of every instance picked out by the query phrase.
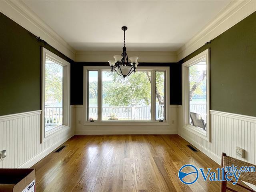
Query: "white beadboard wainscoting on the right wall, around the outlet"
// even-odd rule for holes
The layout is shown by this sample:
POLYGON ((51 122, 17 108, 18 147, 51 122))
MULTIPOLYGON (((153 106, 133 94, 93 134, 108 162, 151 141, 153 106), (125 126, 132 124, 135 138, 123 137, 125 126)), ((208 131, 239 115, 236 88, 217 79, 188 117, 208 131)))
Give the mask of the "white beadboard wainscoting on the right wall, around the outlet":
MULTIPOLYGON (((190 142, 218 164, 221 153, 256 164, 256 117, 210 110, 210 142, 182 128, 182 106, 178 106, 178 135, 190 142), (243 148, 244 158, 236 155, 243 148)), ((256 186, 249 185, 256 189, 256 186)))

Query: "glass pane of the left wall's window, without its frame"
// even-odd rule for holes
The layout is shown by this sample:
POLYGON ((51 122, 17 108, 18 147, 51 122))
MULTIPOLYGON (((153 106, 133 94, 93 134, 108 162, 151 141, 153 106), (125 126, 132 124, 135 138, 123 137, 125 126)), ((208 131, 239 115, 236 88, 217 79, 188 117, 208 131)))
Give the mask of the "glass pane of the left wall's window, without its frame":
POLYGON ((45 132, 62 125, 63 66, 48 60, 45 62, 45 132))

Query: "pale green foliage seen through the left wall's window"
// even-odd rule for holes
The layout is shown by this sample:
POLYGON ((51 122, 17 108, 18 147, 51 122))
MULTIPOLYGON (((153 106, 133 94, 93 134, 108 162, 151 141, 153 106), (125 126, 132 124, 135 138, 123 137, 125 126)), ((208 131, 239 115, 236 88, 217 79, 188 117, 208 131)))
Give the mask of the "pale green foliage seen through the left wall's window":
POLYGON ((45 64, 45 100, 62 100, 62 70, 59 64, 45 64))

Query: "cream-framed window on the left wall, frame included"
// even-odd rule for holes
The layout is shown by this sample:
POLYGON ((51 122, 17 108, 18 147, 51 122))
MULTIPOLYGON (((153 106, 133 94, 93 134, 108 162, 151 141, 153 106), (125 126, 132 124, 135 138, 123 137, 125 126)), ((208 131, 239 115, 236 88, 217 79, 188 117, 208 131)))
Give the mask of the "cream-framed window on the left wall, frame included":
POLYGON ((42 136, 41 142, 69 126, 70 63, 42 48, 42 136))

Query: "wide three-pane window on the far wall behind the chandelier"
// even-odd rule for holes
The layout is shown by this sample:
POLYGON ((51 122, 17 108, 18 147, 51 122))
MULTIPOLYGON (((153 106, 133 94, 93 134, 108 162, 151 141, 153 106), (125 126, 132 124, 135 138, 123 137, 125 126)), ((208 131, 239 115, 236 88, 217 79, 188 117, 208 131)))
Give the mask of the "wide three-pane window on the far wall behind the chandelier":
POLYGON ((109 67, 84 67, 87 122, 166 122, 169 68, 140 67, 125 79, 109 67))

